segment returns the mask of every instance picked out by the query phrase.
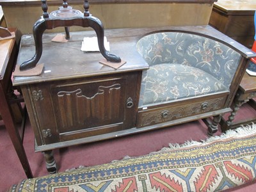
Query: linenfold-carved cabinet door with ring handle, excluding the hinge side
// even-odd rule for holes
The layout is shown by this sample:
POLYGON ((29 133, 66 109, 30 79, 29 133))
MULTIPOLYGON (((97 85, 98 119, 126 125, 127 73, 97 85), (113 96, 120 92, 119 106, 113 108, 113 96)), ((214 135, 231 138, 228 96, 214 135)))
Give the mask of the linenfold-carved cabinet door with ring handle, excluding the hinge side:
POLYGON ((137 107, 127 106, 127 100, 136 100, 137 81, 130 80, 134 77, 137 80, 137 75, 124 75, 52 84, 60 141, 132 128, 135 119, 129 113, 134 114, 137 107))

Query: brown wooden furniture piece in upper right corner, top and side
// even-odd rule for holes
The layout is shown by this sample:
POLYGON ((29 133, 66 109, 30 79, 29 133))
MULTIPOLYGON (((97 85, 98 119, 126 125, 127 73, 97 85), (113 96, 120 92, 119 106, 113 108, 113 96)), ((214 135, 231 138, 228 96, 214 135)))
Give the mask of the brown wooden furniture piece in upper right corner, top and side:
POLYGON ((255 0, 218 0, 213 5, 209 24, 237 42, 252 48, 255 10, 255 0))

